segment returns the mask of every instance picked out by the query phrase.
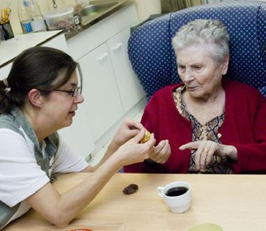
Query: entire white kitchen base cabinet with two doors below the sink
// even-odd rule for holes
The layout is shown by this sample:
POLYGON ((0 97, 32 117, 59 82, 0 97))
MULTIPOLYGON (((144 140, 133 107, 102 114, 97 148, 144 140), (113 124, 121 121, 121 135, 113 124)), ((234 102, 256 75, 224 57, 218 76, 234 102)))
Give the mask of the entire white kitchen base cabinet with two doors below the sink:
POLYGON ((134 3, 67 40, 83 73, 86 117, 97 152, 125 117, 134 117, 146 100, 127 57, 130 27, 137 23, 134 3))

